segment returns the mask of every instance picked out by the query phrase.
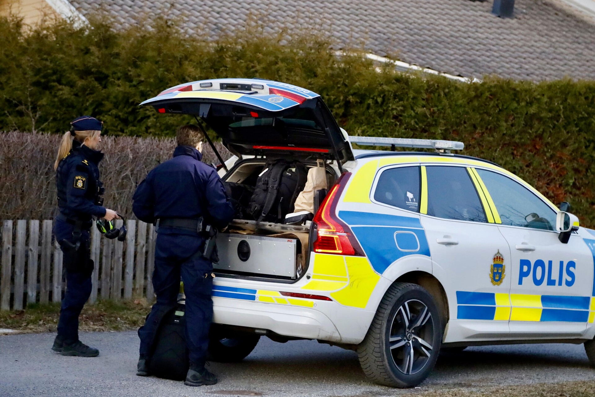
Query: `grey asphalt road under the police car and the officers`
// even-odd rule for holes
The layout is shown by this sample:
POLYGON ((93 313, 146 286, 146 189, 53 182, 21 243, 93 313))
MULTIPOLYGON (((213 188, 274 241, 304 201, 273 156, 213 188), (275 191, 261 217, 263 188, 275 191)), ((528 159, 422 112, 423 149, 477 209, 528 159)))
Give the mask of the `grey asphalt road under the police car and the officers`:
MULTIPOLYGON (((311 340, 275 343, 261 338, 245 361, 211 363, 219 383, 137 377, 136 332, 82 333, 99 357, 63 357, 54 335, 0 336, 0 396, 394 396, 411 394, 368 382, 352 351, 311 340)), ((442 354, 422 390, 594 380, 583 345, 471 347, 442 354)))

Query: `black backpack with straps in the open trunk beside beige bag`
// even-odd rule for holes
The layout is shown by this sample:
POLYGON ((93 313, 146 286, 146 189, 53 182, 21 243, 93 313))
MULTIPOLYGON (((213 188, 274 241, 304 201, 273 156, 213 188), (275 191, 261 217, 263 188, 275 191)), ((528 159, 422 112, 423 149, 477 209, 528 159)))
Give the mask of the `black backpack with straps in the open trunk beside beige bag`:
POLYGON ((248 211, 257 221, 280 223, 293 212, 297 195, 306 185, 308 173, 299 161, 268 160, 258 176, 248 211))

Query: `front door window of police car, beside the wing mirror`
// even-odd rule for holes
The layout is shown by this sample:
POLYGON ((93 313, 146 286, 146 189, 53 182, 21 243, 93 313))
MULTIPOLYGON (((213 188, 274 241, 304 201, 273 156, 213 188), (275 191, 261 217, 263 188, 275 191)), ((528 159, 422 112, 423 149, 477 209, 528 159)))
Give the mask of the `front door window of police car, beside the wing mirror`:
POLYGON ((496 205, 502 224, 554 230, 556 211, 515 180, 493 171, 477 170, 496 205))

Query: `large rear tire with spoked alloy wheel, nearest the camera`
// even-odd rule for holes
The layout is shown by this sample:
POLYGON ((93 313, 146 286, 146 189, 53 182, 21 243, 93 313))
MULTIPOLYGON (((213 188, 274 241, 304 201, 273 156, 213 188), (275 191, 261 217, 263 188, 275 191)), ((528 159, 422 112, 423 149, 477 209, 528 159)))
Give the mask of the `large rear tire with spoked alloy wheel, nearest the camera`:
POLYGON ((414 387, 434 368, 441 342, 439 312, 430 293, 415 284, 394 283, 358 346, 359 364, 375 383, 414 387))

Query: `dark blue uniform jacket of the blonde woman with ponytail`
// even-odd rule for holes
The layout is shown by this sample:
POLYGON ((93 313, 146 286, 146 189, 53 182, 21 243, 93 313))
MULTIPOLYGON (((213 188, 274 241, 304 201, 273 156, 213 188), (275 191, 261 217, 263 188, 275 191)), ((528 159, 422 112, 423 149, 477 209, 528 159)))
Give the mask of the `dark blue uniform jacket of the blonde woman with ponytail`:
POLYGON ((102 158, 102 152, 73 140, 73 148, 56 170, 58 208, 65 217, 89 221, 91 215, 105 215, 105 208, 96 205, 95 201, 98 189, 102 187, 98 168, 102 158))

